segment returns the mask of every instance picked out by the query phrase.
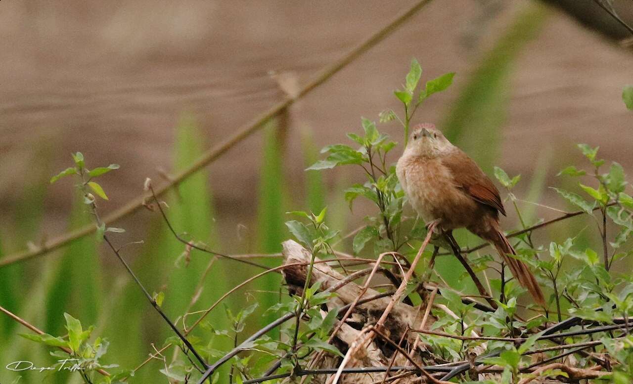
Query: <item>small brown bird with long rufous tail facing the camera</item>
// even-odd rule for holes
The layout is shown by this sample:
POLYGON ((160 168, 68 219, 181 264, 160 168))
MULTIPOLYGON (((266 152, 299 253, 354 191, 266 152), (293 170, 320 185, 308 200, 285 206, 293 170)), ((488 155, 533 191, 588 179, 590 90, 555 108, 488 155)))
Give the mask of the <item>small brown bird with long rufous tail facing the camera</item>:
POLYGON ((541 287, 527 265, 508 256, 517 252, 499 227, 499 212, 506 215, 499 190, 435 125, 413 127, 396 173, 411 205, 426 223, 437 221, 449 237, 452 230, 465 227, 494 245, 512 275, 538 304, 545 305, 541 287))

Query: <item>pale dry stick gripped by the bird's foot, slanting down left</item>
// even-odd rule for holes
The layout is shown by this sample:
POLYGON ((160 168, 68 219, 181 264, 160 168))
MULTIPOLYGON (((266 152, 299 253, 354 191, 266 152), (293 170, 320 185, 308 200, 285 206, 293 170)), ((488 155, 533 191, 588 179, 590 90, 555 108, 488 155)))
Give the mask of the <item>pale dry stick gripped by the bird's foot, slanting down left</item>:
MULTIPOLYGON (((429 225, 429 232, 427 232, 427 237, 424 239, 424 242, 422 242, 422 245, 420 246, 420 250, 418 251, 418 254, 415 255, 415 259, 413 259, 413 262, 411 263, 411 268, 409 268, 408 271, 406 271, 406 275, 404 275, 404 278, 402 280, 402 283, 398 287, 398 290, 396 290, 396 293, 392 295, 391 300, 389 301, 389 304, 387 304, 387 307, 385 308, 382 315, 376 322, 375 328, 377 328, 378 330, 382 328, 385 320, 387 319, 387 316, 389 316, 389 313, 391 313, 391 309, 393 309, 393 307, 396 305, 396 302, 400 301, 400 298, 404 294, 404 291, 406 290, 406 285, 408 284, 411 276, 413 275, 413 271, 415 270, 415 266, 417 266, 418 261, 420 261, 420 258, 422 257, 422 252, 424 252, 424 249, 429 244, 431 235, 433 234, 433 230, 436 227, 437 227, 437 221, 432 221, 429 225)), ((332 384, 338 383, 339 378, 341 378, 342 370, 345 368, 345 365, 347 364, 351 356, 354 356, 354 354, 356 353, 356 350, 358 350, 358 348, 361 345, 365 345, 372 340, 376 332, 374 331, 373 326, 370 328, 364 328, 361 331, 361 333, 358 335, 358 338, 357 338, 358 342, 354 342, 352 345, 349 346, 348 352, 345 354, 345 357, 343 357, 343 361, 341 362, 341 365, 339 366, 339 369, 337 370, 336 375, 334 376, 334 380, 332 380, 332 384), (365 333, 367 333, 368 331, 369 331, 368 337, 364 337, 365 333)), ((408 357, 408 354, 406 356, 408 357)))

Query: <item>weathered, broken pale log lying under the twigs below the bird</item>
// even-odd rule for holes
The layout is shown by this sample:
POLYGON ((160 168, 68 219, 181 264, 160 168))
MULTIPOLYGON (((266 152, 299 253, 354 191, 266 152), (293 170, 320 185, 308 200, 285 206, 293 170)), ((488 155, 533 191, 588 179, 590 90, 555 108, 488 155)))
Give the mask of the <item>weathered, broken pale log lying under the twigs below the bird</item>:
MULTIPOLYGON (((282 270, 285 281, 289 285, 291 292, 301 292, 304 287, 306 273, 308 267, 305 264, 310 263, 311 253, 303 246, 293 240, 287 240, 283 244, 284 264, 287 268, 282 270), (297 265, 303 263, 304 265, 297 265)), ((316 260, 315 260, 316 261, 316 260)), ((333 262, 335 263, 335 262, 333 262)), ((327 263, 314 264, 310 284, 320 282, 320 290, 333 290, 337 296, 327 303, 328 309, 342 307, 351 304, 358 299, 372 297, 378 295, 379 292, 372 288, 367 288, 363 293, 363 287, 354 283, 347 282, 347 276, 335 271, 327 263)), ((387 306, 391 302, 391 297, 382 297, 372 300, 365 304, 359 304, 354 307, 351 316, 341 325, 337 331, 333 344, 339 347, 339 350, 345 352, 353 343, 358 340, 367 326, 377 323, 380 316, 384 313, 387 306)), ((409 357, 405 357, 396 350, 394 344, 399 344, 404 350, 408 350, 415 344, 416 333, 408 330, 423 325, 429 328, 435 321, 432 315, 427 314, 427 319, 423 321, 425 316, 426 303, 421 307, 412 307, 403 302, 396 302, 389 312, 389 316, 385 319, 384 326, 381 328, 381 334, 389 337, 384 340, 383 337, 377 337, 371 340, 367 345, 360 346, 351 360, 346 364, 348 368, 353 367, 384 367, 384 366, 413 366, 411 360, 422 364, 422 354, 425 350, 423 344, 418 344, 417 348, 409 353, 409 357), (396 354, 394 359, 394 354, 396 354)), ((340 319, 340 318, 339 318, 340 319)), ((335 326, 335 329, 337 327, 335 326)), ((341 363, 341 359, 328 356, 322 359, 315 368, 336 368, 341 363)), ((316 383, 329 383, 333 375, 315 376, 316 383)), ((382 380, 385 373, 354 373, 342 376, 339 383, 365 384, 382 380)), ((417 379, 417 375, 411 375, 403 378, 399 383, 412 383, 417 379)))

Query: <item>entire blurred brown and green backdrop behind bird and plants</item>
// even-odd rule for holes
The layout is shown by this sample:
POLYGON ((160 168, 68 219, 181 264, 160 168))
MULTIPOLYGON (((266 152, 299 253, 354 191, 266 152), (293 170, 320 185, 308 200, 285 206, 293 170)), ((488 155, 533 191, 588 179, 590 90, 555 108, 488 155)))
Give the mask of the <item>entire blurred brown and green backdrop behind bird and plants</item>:
MULTIPOLYGON (((107 215, 143 194, 146 177, 154 185, 168 183, 414 3, 1 2, 0 255, 37 248, 89 223, 73 182, 48 182, 72 165, 71 152, 83 152, 89 168, 120 164, 101 178, 110 200, 100 202, 99 210, 107 215)), ((633 2, 601 4, 633 23, 633 2)), ((385 108, 401 113, 392 91, 401 87, 411 58, 422 64, 423 81, 456 72, 454 84, 418 111, 418 122, 451 132, 489 175, 494 165, 510 176, 521 174, 520 199, 570 209, 547 187, 573 189, 572 181, 556 174, 582 162, 576 143, 600 146, 601 157, 633 168, 631 115, 621 99, 622 87, 633 82, 631 36, 592 0, 433 1, 166 194, 168 214, 179 232, 227 254, 279 252, 289 237, 286 211, 328 206, 330 226, 346 233, 362 225, 372 207, 359 201, 350 211, 342 193, 363 182, 362 173, 304 168, 318 159, 322 146, 359 132, 361 116, 378 120, 385 108)), ((379 130, 402 142, 398 123, 380 124, 379 130)), ((396 148, 389 161, 400 152, 396 148)), ((532 221, 557 215, 520 205, 532 221)), ((172 318, 210 306, 259 272, 225 260, 210 264, 208 254, 195 251, 191 263, 183 262, 184 247, 150 211, 113 225, 127 230, 116 235, 119 245, 144 240, 123 254, 149 290, 165 292, 172 318), (201 281, 203 293, 191 305, 201 281)), ((518 228, 516 214, 503 225, 518 228)), ((539 238, 564 240, 587 225, 583 219, 565 222, 539 238)), ((453 265, 442 263, 444 271, 453 265)), ((65 334, 68 312, 110 340, 108 362, 134 368, 153 352, 151 343, 162 345, 170 333, 124 272, 88 236, 1 266, 0 306, 53 335, 65 334)), ((277 302, 280 281, 259 280, 230 306, 277 302)), ((210 322, 227 324, 222 307, 210 322)), ((4 369, 8 362, 46 366, 53 360, 46 349, 16 335, 25 331, 0 316, 2 384, 18 377, 4 369)), ((218 349, 227 347, 218 343, 218 349)), ((167 361, 171 357, 166 354, 167 361)), ((166 382, 158 372, 162 366, 151 362, 131 382, 166 382)), ((21 376, 20 383, 78 382, 62 374, 21 376)))

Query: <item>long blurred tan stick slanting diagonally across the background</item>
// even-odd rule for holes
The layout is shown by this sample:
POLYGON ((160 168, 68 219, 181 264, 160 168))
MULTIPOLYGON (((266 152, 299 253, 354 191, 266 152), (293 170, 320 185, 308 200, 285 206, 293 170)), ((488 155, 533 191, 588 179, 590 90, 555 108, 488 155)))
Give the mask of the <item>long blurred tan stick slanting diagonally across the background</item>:
MULTIPOLYGON (((385 26, 384 28, 382 28, 381 30, 373 34, 371 37, 363 41, 358 46, 354 47, 354 49, 349 51, 349 53, 346 54, 339 61, 329 66, 328 68, 325 68, 325 70, 323 70, 318 76, 316 76, 314 80, 312 80, 310 83, 306 84, 305 87, 299 90, 296 97, 287 98, 284 101, 278 102, 277 104, 272 106, 272 108, 268 109, 268 111, 266 111, 265 113, 262 113, 260 116, 257 116, 253 120, 249 121, 246 125, 242 126, 242 128, 237 130, 237 132, 234 135, 224 140, 222 143, 218 144, 218 146, 212 147, 208 151, 204 152, 204 154, 200 156, 200 158, 198 158, 196 161, 194 161, 194 163, 191 164, 189 168, 181 171, 180 173, 175 175, 169 183, 167 183, 166 185, 163 185, 163 187, 160 187, 157 190, 158 195, 164 194, 168 190, 172 189, 172 187, 174 187, 175 185, 178 185, 186 178, 190 177, 197 171, 204 168, 204 166, 218 159, 220 156, 225 154, 225 152, 228 152, 229 149, 234 147, 235 144, 249 137, 251 134, 256 132, 259 128, 261 128, 265 123, 272 120, 272 118, 275 118, 275 116, 279 115, 279 113, 284 111, 284 109, 289 108, 289 106, 294 104, 295 101, 297 101, 298 99, 301 99, 301 97, 308 95, 312 90, 316 89, 316 87, 318 87, 319 85, 322 85, 323 83, 327 82, 327 80, 329 80, 332 76, 334 76, 340 70, 348 66, 354 60, 359 58, 362 54, 367 52, 373 46, 379 44, 379 42, 384 40, 387 36, 389 36, 395 30, 397 30, 398 27, 400 27, 404 22, 409 20, 411 16, 415 15, 420 9, 422 9, 423 6, 425 6, 429 2, 430 0, 420 0, 417 3, 415 3, 410 9, 408 9, 406 12, 396 17, 387 26, 385 26)), ((136 197, 135 199, 132 199, 132 201, 128 202, 124 206, 120 207, 119 209, 116 209, 116 211, 106 216, 106 218, 104 218, 104 223, 106 223, 107 225, 109 223, 112 223, 113 221, 119 220, 121 218, 124 218, 125 216, 129 216, 130 214, 135 213, 143 206, 143 203, 144 203, 143 196, 139 196, 139 197, 136 197)), ((95 230, 96 228, 94 225, 86 225, 83 228, 79 228, 78 230, 68 232, 64 235, 55 237, 45 242, 38 249, 35 249, 33 251, 26 250, 26 251, 17 252, 15 254, 6 256, 2 260, 0 260, 0 267, 8 265, 8 264, 12 264, 12 263, 17 263, 19 261, 31 259, 33 257, 46 254, 47 252, 54 251, 55 249, 63 247, 66 244, 70 244, 71 242, 77 240, 78 238, 82 238, 85 235, 89 235, 95 230)))

